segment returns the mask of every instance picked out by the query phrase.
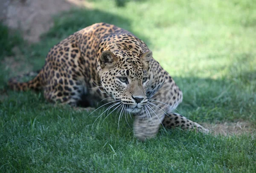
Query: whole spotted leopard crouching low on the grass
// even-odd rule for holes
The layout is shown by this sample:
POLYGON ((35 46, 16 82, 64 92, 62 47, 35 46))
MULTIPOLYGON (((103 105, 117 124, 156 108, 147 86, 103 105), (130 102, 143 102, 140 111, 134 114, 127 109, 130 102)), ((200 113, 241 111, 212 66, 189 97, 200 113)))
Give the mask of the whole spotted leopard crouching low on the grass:
POLYGON ((183 95, 172 77, 154 60, 147 45, 129 31, 107 23, 88 26, 53 46, 44 67, 29 82, 9 80, 14 90, 43 90, 49 102, 74 107, 104 100, 134 114, 140 140, 168 128, 208 132, 173 113, 183 95))

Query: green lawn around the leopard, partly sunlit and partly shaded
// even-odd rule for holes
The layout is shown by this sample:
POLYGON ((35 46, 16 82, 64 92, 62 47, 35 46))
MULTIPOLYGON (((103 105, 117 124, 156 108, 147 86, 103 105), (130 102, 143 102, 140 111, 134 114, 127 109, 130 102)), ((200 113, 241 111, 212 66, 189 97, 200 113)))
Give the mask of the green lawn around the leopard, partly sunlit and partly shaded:
POLYGON ((182 89, 184 101, 178 110, 184 116, 200 123, 246 121, 256 127, 253 0, 92 3, 93 9, 56 16, 54 26, 33 45, 17 41, 18 36, 0 27, 0 57, 13 53, 14 46, 22 53, 12 54, 20 63, 15 69, 1 61, 0 171, 255 173, 255 134, 204 136, 161 129, 156 138, 139 142, 125 119, 117 129, 115 114, 93 125, 104 109, 88 116, 53 107, 41 93, 5 90, 9 77, 40 69, 49 48, 60 40, 93 23, 107 22, 148 44, 182 89))

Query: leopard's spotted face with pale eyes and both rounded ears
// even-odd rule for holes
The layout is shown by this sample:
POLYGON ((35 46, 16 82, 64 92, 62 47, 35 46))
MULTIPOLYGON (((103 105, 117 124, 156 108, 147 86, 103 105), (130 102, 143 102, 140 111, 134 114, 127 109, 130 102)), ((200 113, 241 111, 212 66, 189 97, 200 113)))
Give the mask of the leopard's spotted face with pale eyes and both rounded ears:
POLYGON ((140 114, 148 99, 148 62, 151 51, 142 55, 103 51, 98 71, 104 91, 120 100, 129 113, 140 114))

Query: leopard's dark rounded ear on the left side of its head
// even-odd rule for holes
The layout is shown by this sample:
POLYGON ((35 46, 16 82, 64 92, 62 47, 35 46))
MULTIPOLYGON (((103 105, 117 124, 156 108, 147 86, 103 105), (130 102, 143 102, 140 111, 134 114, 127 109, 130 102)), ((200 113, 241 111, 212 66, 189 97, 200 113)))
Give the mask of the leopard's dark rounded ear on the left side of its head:
POLYGON ((111 67, 117 60, 117 57, 111 51, 103 51, 99 60, 102 68, 105 66, 111 67))

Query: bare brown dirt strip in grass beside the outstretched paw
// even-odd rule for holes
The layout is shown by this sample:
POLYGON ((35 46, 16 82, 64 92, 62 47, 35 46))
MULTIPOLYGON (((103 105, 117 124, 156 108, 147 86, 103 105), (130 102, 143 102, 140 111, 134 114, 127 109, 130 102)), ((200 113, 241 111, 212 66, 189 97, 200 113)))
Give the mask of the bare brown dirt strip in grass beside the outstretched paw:
POLYGON ((253 134, 256 132, 255 125, 250 122, 224 122, 220 124, 202 124, 205 128, 209 129, 211 133, 218 135, 240 135, 243 133, 253 134))

